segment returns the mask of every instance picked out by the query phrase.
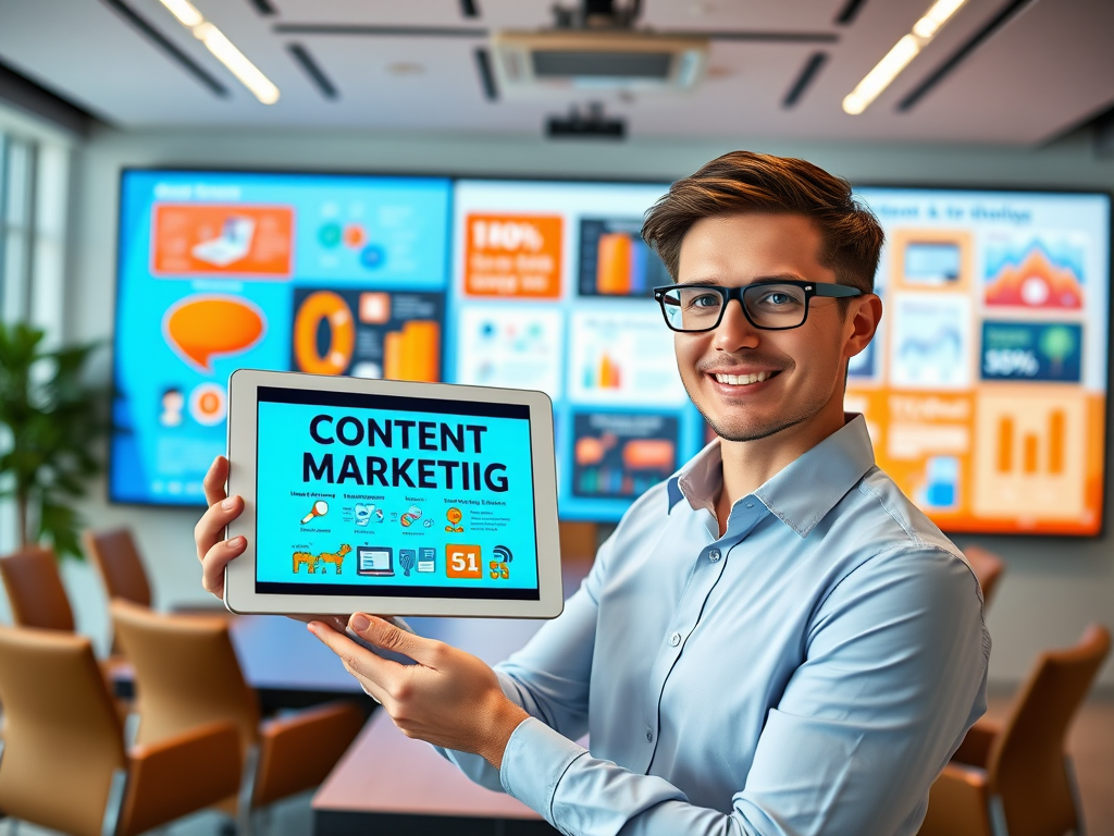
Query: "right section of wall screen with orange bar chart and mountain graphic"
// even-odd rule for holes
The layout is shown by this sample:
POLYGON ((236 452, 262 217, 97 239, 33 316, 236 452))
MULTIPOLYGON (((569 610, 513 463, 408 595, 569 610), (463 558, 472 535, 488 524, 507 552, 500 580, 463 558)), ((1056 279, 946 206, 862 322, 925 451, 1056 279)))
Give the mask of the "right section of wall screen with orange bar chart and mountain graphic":
POLYGON ((848 405, 879 466, 945 531, 1097 534, 1110 198, 858 194, 886 230, 886 323, 848 405))

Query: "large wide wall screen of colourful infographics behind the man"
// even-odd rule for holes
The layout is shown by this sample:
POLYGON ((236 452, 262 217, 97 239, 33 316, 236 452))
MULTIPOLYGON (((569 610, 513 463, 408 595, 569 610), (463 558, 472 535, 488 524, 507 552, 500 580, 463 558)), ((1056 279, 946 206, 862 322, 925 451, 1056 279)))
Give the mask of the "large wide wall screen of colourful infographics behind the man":
MULTIPOLYGON (((110 497, 199 505, 244 367, 541 389, 561 516, 617 519, 707 438, 638 237, 667 185, 125 171, 110 497)), ((947 531, 1098 533, 1108 196, 859 194, 879 464, 947 531)))

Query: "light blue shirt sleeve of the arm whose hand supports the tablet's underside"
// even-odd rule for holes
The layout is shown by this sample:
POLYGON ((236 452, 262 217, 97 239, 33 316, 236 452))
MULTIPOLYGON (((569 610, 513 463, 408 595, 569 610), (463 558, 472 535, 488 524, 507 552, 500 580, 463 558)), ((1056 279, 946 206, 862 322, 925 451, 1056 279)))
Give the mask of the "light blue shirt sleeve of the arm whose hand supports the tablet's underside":
POLYGON ((502 786, 573 836, 915 834, 932 780, 986 710, 989 638, 970 570, 942 548, 878 555, 819 605, 804 651, 730 813, 537 720, 511 737, 502 786))

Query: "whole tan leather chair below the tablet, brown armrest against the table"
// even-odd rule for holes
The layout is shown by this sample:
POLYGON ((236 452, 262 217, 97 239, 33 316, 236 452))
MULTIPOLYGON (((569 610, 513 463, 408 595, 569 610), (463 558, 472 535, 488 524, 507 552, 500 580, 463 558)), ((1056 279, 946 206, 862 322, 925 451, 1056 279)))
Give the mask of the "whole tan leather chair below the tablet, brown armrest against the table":
POLYGON ((116 634, 135 665, 140 716, 137 741, 152 743, 213 720, 235 723, 244 747, 240 797, 227 799, 243 833, 251 811, 324 780, 364 723, 352 700, 260 723, 258 701, 244 681, 228 622, 164 615, 126 601, 111 604, 116 634))

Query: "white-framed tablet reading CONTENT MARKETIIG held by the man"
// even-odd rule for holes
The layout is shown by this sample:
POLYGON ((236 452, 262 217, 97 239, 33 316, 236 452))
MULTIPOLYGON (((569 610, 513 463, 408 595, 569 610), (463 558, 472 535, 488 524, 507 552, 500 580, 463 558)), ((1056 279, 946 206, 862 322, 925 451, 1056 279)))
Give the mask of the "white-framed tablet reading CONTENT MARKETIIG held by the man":
POLYGON ((560 613, 544 392, 248 369, 228 390, 229 610, 560 613))

